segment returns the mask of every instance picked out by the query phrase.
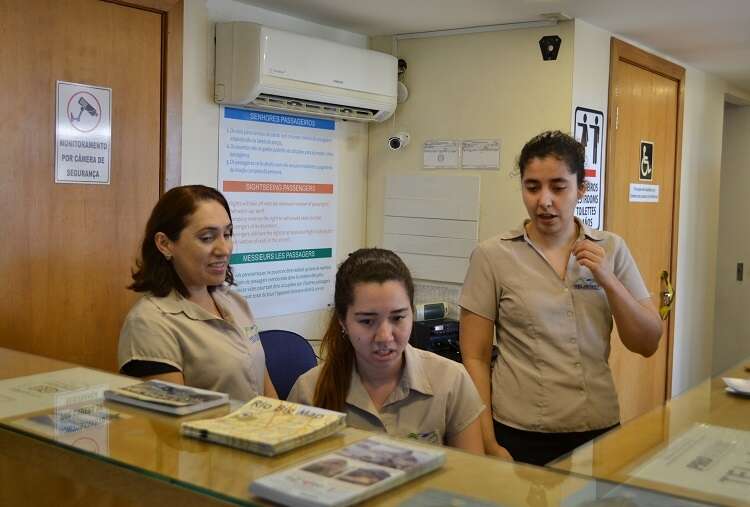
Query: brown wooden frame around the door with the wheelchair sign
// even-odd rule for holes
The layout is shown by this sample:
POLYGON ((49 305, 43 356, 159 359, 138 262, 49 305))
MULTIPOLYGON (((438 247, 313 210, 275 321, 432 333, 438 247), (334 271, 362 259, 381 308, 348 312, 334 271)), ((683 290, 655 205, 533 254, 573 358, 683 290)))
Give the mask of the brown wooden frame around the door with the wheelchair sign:
MULTIPOLYGON (((636 67, 640 67, 649 72, 659 74, 663 77, 671 79, 677 83, 677 132, 675 137, 675 178, 674 178, 674 195, 672 204, 672 249, 669 259, 669 276, 672 280, 672 285, 677 287, 677 250, 678 250, 678 233, 680 229, 680 180, 682 174, 682 122, 684 120, 684 98, 685 98, 685 69, 677 64, 674 64, 668 60, 660 58, 651 53, 628 44, 627 42, 611 38, 610 43, 610 63, 609 63, 609 103, 607 106, 607 132, 615 132, 615 124, 617 122, 617 108, 616 108, 616 94, 613 83, 615 83, 616 76, 616 63, 625 62, 636 67)), ((607 136, 607 165, 606 167, 614 167, 615 157, 615 137, 614 135, 607 136)), ((614 189, 611 188, 610 178, 605 177, 605 195, 612 195, 614 189)), ((606 217, 606 215, 605 215, 606 217)), ((606 218, 605 218, 606 220, 606 218)), ((658 298, 658 295, 657 295, 658 298)), ((659 301, 656 301, 657 306, 659 301)), ((669 316, 669 324, 667 327, 667 379, 666 379, 666 398, 672 397, 672 352, 674 351, 674 309, 669 316)))

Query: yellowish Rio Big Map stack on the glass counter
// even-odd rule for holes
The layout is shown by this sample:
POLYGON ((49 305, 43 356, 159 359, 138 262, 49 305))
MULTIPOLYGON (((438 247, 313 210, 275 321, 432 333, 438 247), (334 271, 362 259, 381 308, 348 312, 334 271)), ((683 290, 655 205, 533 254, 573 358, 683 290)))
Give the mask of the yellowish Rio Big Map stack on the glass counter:
POLYGON ((217 419, 182 423, 183 435, 274 456, 336 433, 346 414, 290 401, 256 396, 217 419))

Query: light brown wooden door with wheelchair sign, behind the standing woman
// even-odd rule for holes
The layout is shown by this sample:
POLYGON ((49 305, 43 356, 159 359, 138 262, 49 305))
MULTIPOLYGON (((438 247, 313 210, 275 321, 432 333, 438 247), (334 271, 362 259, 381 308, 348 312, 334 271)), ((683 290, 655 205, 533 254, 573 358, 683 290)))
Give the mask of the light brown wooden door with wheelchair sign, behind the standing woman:
MULTIPOLYGON (((661 271, 672 281, 675 273, 683 82, 681 67, 612 40, 604 225, 625 239, 656 305, 661 271), (644 150, 651 155, 645 160, 644 150), (645 194, 634 189, 640 195, 658 188, 657 202, 634 202, 631 185, 650 185, 645 194)), ((648 359, 629 352, 613 333, 610 365, 623 422, 668 397, 671 349, 669 321, 648 359)))

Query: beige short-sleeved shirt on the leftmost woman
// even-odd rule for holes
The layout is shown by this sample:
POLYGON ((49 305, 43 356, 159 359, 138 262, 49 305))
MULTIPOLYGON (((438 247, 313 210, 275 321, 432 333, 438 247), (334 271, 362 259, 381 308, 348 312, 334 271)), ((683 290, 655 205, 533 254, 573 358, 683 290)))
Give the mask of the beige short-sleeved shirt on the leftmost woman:
POLYGON ((119 367, 130 360, 166 363, 189 386, 238 400, 262 395, 266 358, 250 306, 228 287, 212 295, 223 319, 175 290, 163 298, 143 296, 120 332, 119 367))

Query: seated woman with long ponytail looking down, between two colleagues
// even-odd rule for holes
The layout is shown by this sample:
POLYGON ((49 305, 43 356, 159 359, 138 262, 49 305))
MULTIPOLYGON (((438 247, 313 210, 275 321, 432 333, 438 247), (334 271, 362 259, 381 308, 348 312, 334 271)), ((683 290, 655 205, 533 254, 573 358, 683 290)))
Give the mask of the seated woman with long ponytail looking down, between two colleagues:
POLYGON ((349 426, 483 453, 484 405, 464 367, 409 345, 414 283, 393 252, 364 248, 336 273, 324 362, 290 401, 347 414, 349 426))

